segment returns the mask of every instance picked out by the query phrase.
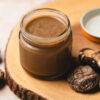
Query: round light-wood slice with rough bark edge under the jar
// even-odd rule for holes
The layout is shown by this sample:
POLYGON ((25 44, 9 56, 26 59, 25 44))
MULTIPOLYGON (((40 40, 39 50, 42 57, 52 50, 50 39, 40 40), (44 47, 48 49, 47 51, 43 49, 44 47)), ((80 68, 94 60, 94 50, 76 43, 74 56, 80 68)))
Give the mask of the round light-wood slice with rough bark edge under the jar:
MULTIPOLYGON (((56 8, 66 13, 73 30, 73 56, 77 57, 82 48, 100 50, 100 44, 85 38, 80 28, 82 14, 95 7, 100 7, 100 0, 58 0, 42 7, 56 8)), ((10 35, 6 55, 6 78, 10 89, 23 100, 100 100, 100 92, 81 94, 73 91, 66 80, 44 81, 32 77, 21 66, 19 61, 19 25, 10 35)))

